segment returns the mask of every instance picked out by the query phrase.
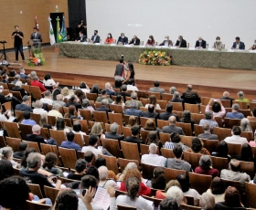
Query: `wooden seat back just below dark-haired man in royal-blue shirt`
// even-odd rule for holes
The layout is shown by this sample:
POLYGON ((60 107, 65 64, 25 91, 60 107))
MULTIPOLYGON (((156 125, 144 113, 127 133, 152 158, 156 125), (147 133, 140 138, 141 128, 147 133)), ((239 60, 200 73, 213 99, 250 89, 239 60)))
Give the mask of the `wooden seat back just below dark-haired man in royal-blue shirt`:
POLYGON ((75 165, 78 160, 77 153, 75 150, 59 147, 59 154, 64 167, 72 169, 75 168, 75 165))

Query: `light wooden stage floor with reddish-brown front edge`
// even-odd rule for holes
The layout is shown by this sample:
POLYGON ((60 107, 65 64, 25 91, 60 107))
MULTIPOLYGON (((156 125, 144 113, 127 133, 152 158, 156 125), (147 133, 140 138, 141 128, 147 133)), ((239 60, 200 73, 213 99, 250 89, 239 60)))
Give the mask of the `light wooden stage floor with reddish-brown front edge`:
MULTIPOLYGON (((28 57, 28 50, 24 52, 28 57)), ((59 81, 61 85, 79 86, 80 81, 85 81, 90 87, 98 84, 100 88, 104 88, 105 82, 113 83, 113 74, 118 61, 59 58, 59 52, 55 52, 54 47, 43 47, 43 53, 46 66, 28 67, 27 64, 20 63, 27 69, 27 73, 35 70, 40 79, 43 79, 42 76, 50 72, 52 78, 59 81)), ((14 52, 7 53, 7 56, 12 62, 15 60, 14 52)), ((242 90, 246 98, 256 99, 256 71, 254 70, 193 68, 176 65, 156 67, 138 63, 134 63, 133 66, 137 87, 140 90, 153 87, 153 81, 157 79, 165 91, 175 86, 181 93, 186 89, 187 84, 192 84, 201 96, 219 98, 223 91, 228 90, 231 97, 236 99, 237 92, 242 90)), ((19 68, 19 66, 10 66, 10 68, 19 68)))

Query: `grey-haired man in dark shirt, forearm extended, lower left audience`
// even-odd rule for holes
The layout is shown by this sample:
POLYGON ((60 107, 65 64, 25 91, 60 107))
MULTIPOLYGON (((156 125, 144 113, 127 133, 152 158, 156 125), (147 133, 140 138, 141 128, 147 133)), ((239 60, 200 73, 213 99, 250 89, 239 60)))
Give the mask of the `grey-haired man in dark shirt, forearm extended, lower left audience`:
POLYGON ((38 173, 41 166, 41 154, 38 152, 31 152, 27 156, 27 168, 22 168, 19 171, 19 175, 21 177, 26 177, 28 183, 39 184, 41 192, 45 197, 44 186, 59 189, 61 181, 56 176, 50 176, 47 178, 45 175, 38 173), (53 184, 55 184, 55 186, 53 184))

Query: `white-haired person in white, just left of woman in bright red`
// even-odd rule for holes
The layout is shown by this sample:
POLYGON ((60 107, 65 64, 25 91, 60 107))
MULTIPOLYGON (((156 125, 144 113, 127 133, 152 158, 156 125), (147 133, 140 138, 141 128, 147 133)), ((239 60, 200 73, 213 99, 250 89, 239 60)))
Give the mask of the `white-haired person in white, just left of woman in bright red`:
POLYGON ((108 179, 109 170, 106 166, 101 166, 98 168, 100 175, 100 182, 98 186, 107 189, 109 186, 113 187, 115 190, 119 190, 119 185, 116 184, 112 179, 108 179))

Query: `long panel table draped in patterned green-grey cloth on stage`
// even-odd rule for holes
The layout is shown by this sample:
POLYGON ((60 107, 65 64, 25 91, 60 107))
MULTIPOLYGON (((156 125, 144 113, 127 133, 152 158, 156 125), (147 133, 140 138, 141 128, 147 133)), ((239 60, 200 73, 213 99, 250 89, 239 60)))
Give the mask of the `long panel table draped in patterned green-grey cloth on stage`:
MULTIPOLYGON (((129 62, 138 62, 144 50, 160 50, 173 57, 172 64, 206 68, 256 69, 256 53, 247 50, 191 50, 170 47, 125 47, 120 45, 95 45, 80 42, 59 43, 59 57, 119 60, 121 55, 129 62)), ((256 52, 256 50, 255 50, 256 52)))

